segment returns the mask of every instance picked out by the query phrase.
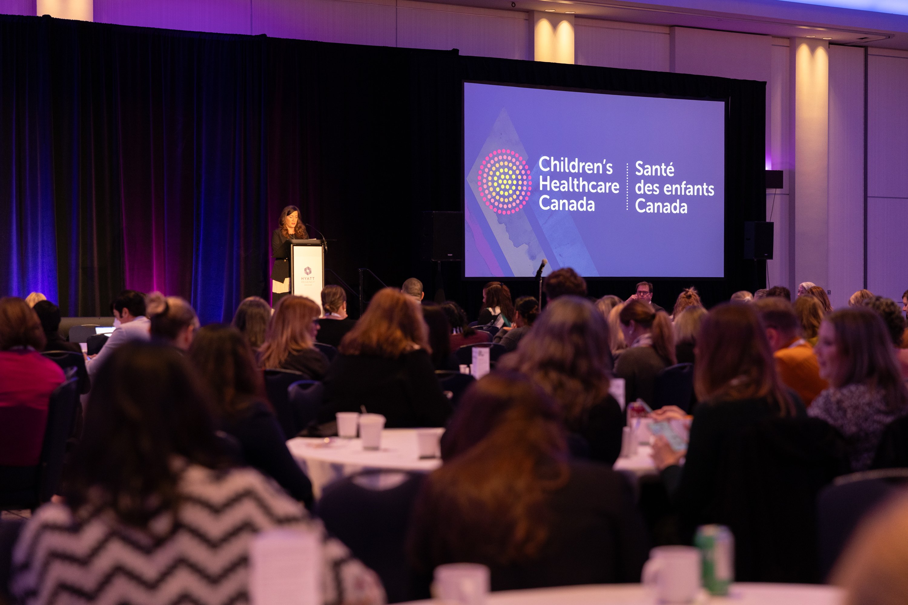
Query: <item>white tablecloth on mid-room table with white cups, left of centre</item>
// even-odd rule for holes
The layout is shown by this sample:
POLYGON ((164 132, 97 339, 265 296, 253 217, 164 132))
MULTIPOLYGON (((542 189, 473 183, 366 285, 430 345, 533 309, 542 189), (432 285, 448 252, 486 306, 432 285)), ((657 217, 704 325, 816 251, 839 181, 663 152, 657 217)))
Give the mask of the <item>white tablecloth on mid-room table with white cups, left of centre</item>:
POLYGON ((363 450, 360 439, 340 437, 295 437, 287 442, 287 447, 309 476, 316 498, 321 497, 321 490, 328 483, 364 469, 429 473, 441 465, 438 458, 419 458, 416 430, 408 428, 382 431, 381 449, 375 452, 363 450))

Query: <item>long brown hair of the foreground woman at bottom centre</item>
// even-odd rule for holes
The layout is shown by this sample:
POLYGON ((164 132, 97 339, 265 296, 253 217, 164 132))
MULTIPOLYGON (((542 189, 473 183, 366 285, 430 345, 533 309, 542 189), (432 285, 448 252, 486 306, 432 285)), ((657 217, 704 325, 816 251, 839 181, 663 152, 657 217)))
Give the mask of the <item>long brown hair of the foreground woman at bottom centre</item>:
POLYGON ((442 455, 416 504, 412 551, 487 564, 537 556, 548 493, 569 473, 555 402, 526 376, 485 376, 460 400, 442 455))

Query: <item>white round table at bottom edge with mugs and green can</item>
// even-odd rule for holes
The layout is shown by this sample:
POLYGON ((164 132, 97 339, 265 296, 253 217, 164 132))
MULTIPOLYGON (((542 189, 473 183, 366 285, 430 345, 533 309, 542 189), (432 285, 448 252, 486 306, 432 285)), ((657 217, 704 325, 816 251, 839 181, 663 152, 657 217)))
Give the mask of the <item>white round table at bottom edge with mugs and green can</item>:
MULTIPOLYGON (((649 605, 655 600, 641 584, 599 584, 535 590, 491 592, 487 605, 649 605)), ((696 604, 735 605, 841 605, 844 593, 833 586, 813 584, 736 583, 728 597, 707 597, 696 604)), ((440 600, 413 601, 409 605, 440 605, 440 600)), ((402 603, 401 605, 408 605, 402 603)))

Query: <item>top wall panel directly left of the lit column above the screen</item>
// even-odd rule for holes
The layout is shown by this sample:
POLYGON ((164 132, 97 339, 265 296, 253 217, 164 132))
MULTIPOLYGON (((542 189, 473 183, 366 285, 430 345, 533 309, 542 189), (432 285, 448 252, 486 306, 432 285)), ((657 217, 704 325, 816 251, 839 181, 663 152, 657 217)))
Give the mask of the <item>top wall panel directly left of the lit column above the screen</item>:
POLYGON ((398 46, 457 48, 460 54, 533 58, 528 14, 465 6, 398 2, 398 46))

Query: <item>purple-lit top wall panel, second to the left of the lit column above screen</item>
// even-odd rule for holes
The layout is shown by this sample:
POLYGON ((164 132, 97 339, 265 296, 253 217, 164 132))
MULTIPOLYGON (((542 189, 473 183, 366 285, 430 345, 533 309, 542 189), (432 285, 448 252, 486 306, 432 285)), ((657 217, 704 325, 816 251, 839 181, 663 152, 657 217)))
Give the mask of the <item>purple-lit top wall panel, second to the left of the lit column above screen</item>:
POLYGON ((394 0, 252 0, 252 34, 395 46, 397 9, 394 0))

